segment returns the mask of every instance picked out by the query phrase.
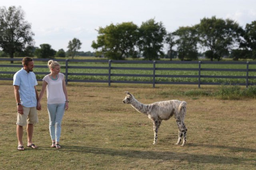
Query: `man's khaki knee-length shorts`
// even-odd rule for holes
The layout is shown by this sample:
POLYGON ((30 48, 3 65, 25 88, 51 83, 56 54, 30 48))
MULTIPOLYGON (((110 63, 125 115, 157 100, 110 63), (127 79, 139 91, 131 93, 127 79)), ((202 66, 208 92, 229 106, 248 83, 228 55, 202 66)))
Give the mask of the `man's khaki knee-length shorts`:
POLYGON ((24 107, 23 114, 17 113, 17 123, 16 125, 25 126, 27 124, 38 123, 38 116, 36 107, 24 107))

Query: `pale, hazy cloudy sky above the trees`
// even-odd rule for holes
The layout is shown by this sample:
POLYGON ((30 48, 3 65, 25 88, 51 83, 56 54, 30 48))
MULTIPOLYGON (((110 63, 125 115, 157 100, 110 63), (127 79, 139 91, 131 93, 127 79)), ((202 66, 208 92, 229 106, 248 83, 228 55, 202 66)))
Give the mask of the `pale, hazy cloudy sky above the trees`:
POLYGON ((78 38, 79 51, 93 52, 96 29, 111 23, 140 26, 155 19, 172 32, 212 16, 232 19, 243 28, 256 20, 256 0, 1 0, 0 6, 21 6, 36 47, 47 43, 56 51, 66 51, 68 42, 78 38))

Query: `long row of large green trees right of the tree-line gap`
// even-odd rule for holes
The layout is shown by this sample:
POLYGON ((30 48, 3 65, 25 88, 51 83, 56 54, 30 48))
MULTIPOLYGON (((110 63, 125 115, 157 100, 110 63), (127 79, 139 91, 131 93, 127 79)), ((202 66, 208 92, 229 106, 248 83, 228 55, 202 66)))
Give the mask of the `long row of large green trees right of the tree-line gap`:
POLYGON ((167 45, 168 58, 176 55, 180 60, 198 59, 199 49, 211 61, 230 56, 234 60, 256 59, 256 21, 243 29, 230 19, 203 18, 194 26, 179 27, 167 32, 162 22, 150 19, 140 27, 132 22, 100 27, 97 41, 92 47, 96 55, 110 59, 143 56, 155 60, 163 56, 167 45))

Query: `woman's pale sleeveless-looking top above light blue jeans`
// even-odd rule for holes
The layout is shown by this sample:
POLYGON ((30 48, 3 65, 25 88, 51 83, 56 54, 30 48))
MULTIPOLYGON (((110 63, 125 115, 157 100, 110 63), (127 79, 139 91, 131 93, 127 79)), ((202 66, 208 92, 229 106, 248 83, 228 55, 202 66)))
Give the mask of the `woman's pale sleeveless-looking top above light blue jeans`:
POLYGON ((46 94, 47 104, 60 104, 66 102, 66 97, 63 91, 62 82, 64 74, 59 73, 57 80, 52 80, 50 74, 44 76, 44 81, 47 82, 46 94))

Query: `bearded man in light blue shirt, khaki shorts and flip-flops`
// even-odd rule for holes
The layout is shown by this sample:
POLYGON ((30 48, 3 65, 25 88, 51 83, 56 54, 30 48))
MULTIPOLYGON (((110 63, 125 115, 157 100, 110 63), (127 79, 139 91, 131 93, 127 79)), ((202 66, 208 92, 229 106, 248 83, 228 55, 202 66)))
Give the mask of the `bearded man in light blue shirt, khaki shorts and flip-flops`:
POLYGON ((13 76, 14 95, 17 102, 17 137, 18 137, 18 150, 24 150, 22 136, 23 126, 27 125, 28 143, 27 147, 33 149, 38 146, 32 143, 32 135, 34 124, 38 123, 37 116, 37 101, 38 92, 36 90, 36 75, 34 74, 34 61, 30 57, 22 59, 23 68, 16 72, 13 76))

